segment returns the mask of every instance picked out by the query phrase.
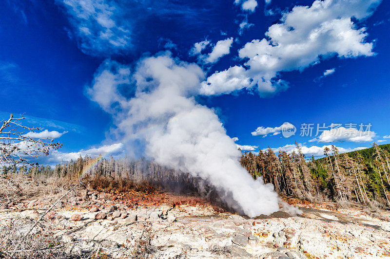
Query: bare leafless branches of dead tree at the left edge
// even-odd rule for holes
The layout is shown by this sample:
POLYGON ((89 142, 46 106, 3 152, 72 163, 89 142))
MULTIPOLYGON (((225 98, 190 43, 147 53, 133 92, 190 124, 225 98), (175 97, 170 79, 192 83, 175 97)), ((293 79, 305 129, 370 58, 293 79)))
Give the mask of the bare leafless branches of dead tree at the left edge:
POLYGON ((31 159, 47 156, 51 149, 61 147, 52 138, 39 137, 40 128, 22 125, 23 119, 24 116, 14 118, 11 114, 2 125, 0 122, 0 166, 33 166, 36 163, 31 163, 31 159))

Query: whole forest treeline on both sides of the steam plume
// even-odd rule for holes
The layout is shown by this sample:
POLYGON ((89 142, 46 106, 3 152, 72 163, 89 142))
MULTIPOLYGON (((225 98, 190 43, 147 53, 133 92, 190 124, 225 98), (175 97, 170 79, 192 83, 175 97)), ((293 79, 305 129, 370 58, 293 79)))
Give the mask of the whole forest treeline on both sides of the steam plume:
MULTIPOLYGON (((296 144, 296 143, 295 143, 296 144)), ((281 195, 311 201, 357 202, 390 207, 390 144, 340 154, 336 147, 325 148, 325 157, 307 160, 296 144, 297 151, 271 148, 258 155, 243 152, 241 165, 254 177, 272 183, 281 195)), ((94 158, 81 156, 54 166, 3 166, 3 174, 23 174, 35 178, 60 177, 75 180, 81 176, 109 177, 115 180, 148 180, 176 191, 201 190, 212 192, 208 183, 187 173, 160 166, 146 159, 94 158)), ((212 183, 211 183, 212 184, 212 183)))

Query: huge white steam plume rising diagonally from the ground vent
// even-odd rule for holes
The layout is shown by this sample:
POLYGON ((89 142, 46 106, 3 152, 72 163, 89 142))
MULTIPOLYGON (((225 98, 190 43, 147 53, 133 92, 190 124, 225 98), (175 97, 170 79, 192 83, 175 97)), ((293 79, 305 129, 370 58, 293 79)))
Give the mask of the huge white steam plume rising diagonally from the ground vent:
POLYGON ((141 143, 157 163, 209 181, 228 205, 250 217, 279 209, 273 185, 248 174, 215 112, 195 101, 205 77, 199 66, 166 52, 142 59, 133 74, 129 71, 106 61, 88 89, 91 99, 112 114, 113 133, 141 143), (108 90, 111 94, 102 94, 108 90))

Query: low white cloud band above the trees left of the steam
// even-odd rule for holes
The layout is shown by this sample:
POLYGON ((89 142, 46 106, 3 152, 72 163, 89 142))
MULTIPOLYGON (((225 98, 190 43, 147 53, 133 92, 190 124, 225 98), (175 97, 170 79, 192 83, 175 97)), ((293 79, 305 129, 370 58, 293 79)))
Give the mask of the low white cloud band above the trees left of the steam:
POLYGON ((102 155, 104 157, 108 157, 110 155, 116 155, 123 151, 124 145, 122 143, 116 143, 112 145, 104 145, 98 148, 90 148, 90 149, 81 149, 78 152, 70 152, 64 153, 59 150, 53 150, 49 156, 42 158, 47 161, 46 164, 55 165, 61 162, 70 161, 71 159, 76 160, 80 156, 85 157, 85 155, 97 157, 98 155, 102 155))

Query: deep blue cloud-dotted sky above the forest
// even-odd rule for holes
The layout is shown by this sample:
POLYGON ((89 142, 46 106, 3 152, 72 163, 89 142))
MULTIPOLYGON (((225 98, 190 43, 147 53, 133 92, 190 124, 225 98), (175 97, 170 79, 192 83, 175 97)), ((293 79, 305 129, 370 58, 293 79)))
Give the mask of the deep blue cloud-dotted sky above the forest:
POLYGON ((146 101, 158 98, 140 93, 160 87, 148 84, 160 69, 145 72, 145 66, 168 60, 188 82, 180 79, 179 94, 163 97, 210 108, 237 145, 252 146, 242 149, 292 150, 286 145, 297 141, 307 156, 318 156, 324 145, 347 151, 390 141, 385 1, 82 3, 6 1, 0 9, 1 118, 25 113, 26 123, 67 131, 58 138, 63 148, 42 163, 80 154, 154 156, 150 149, 158 149, 155 141, 166 132, 157 138, 151 131, 166 128, 177 106, 150 123, 156 114, 147 113, 146 101), (131 111, 144 115, 138 124, 131 111), (297 129, 289 138, 280 133, 285 122, 297 129), (303 123, 314 131, 317 123, 357 129, 300 136, 303 123), (370 131, 359 131, 360 123, 372 125, 370 131), (252 134, 259 127, 270 133, 252 134))

